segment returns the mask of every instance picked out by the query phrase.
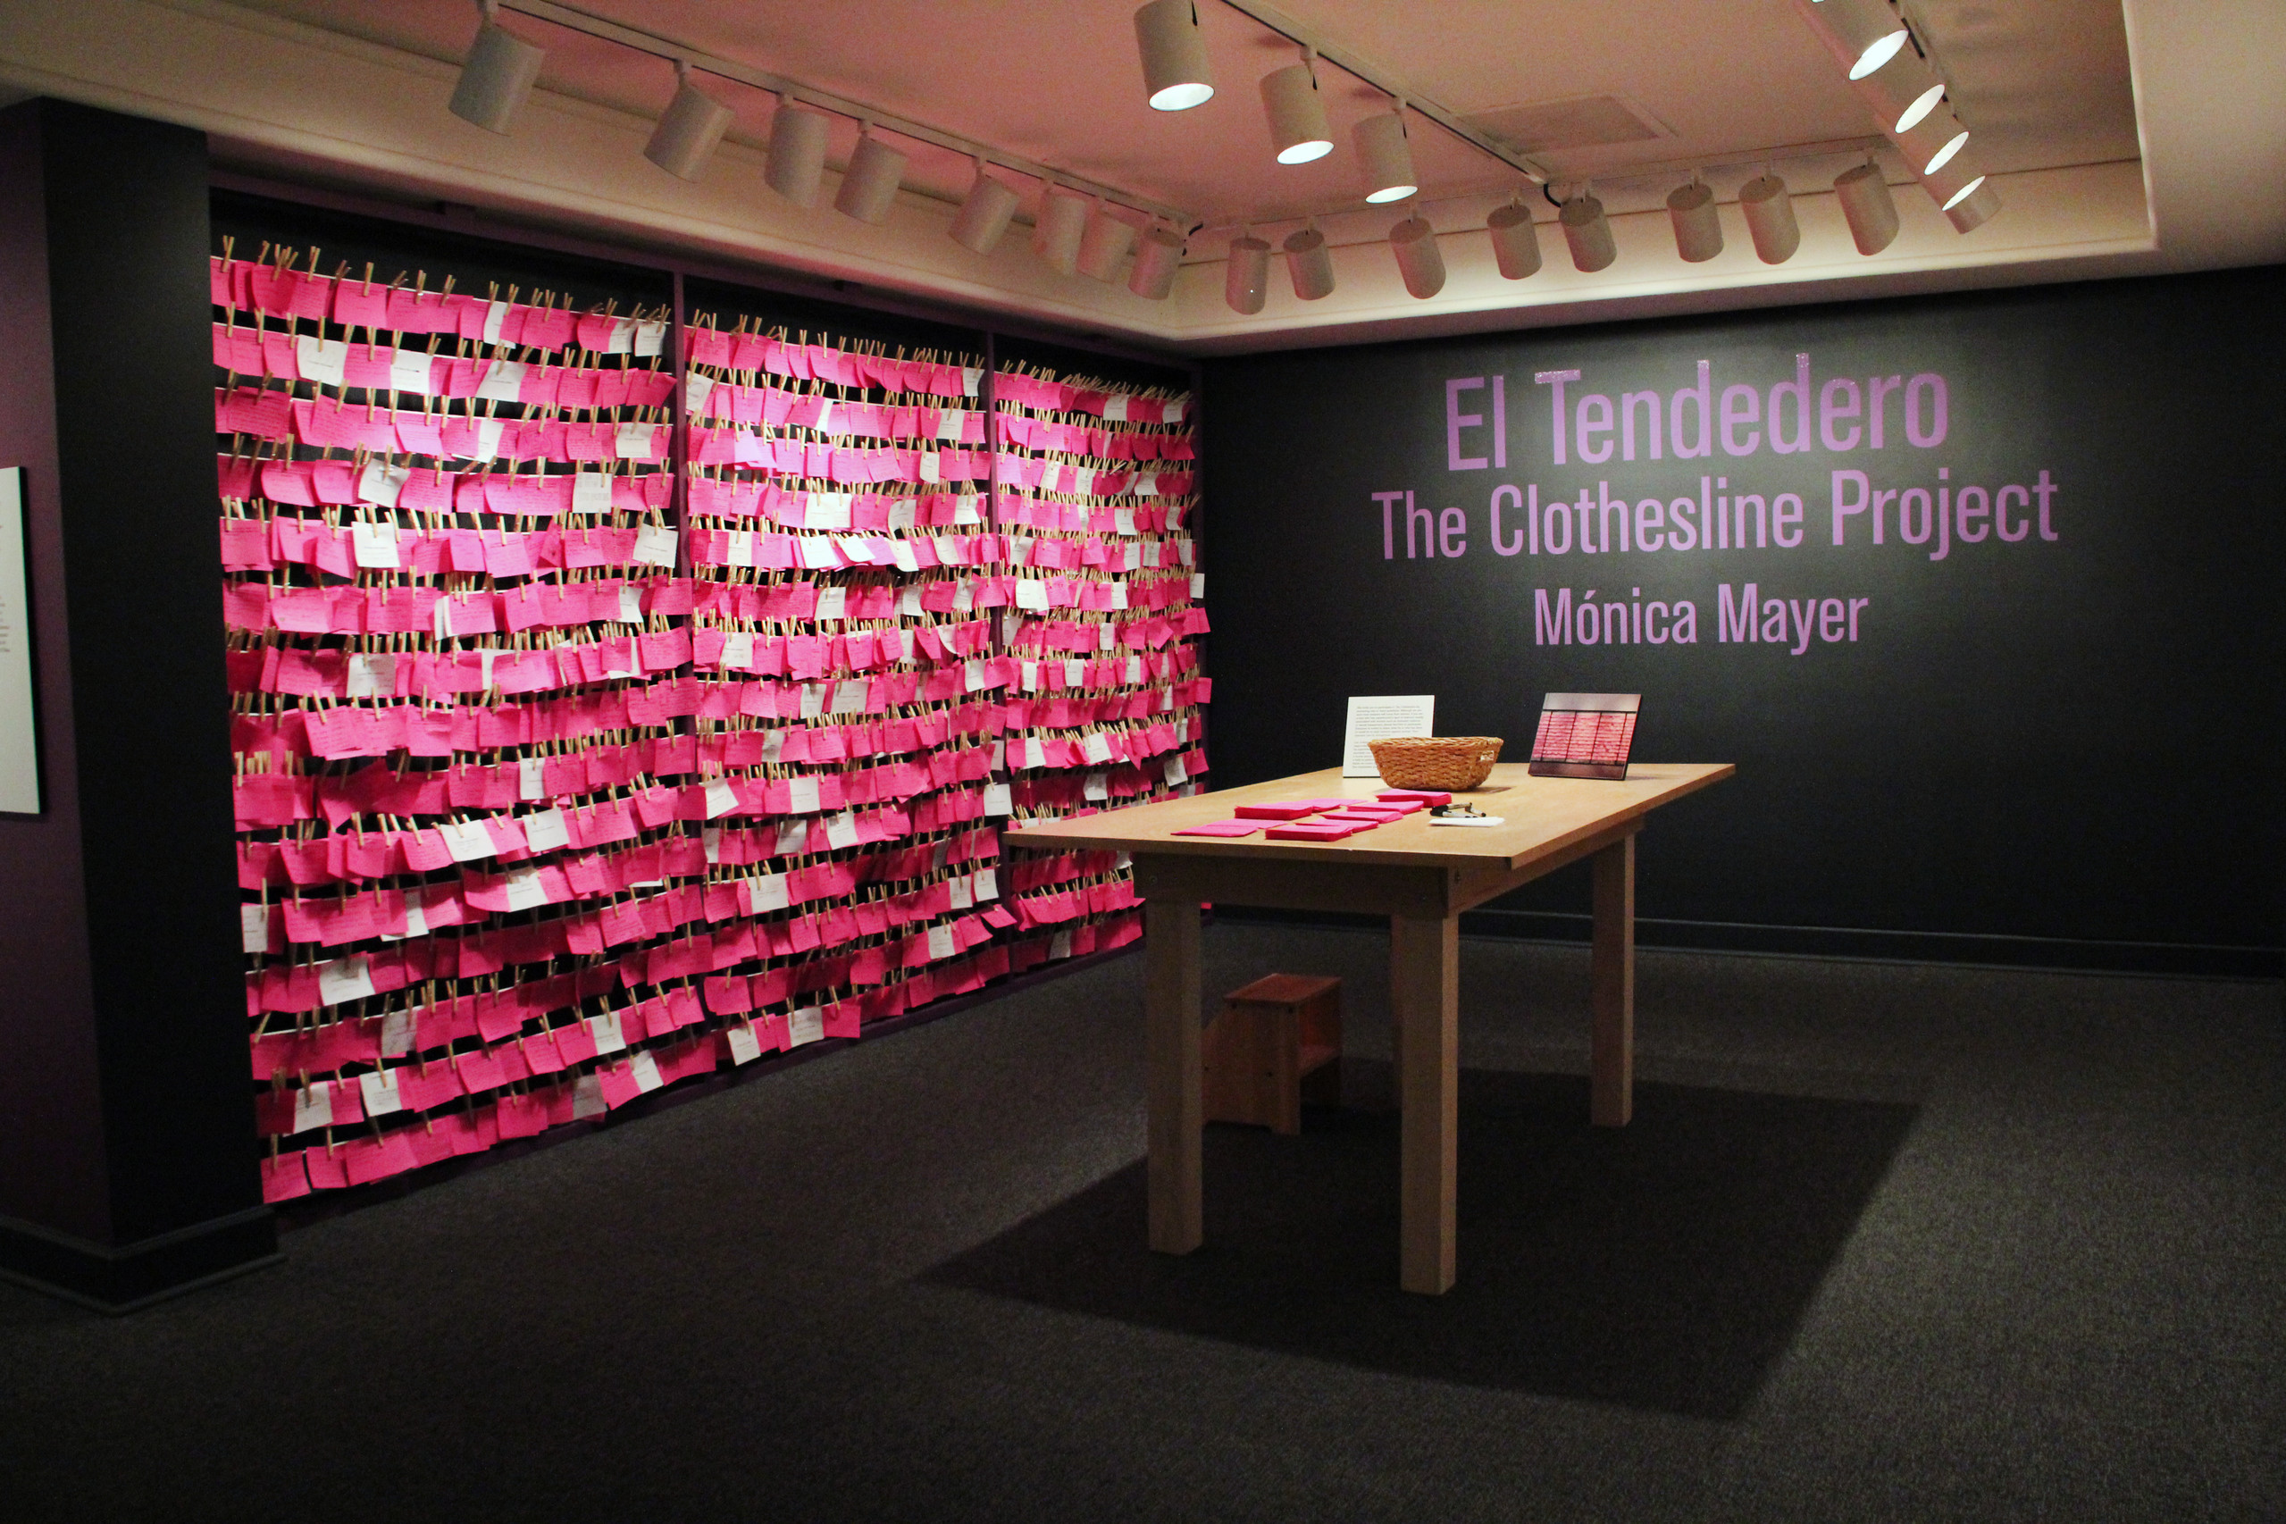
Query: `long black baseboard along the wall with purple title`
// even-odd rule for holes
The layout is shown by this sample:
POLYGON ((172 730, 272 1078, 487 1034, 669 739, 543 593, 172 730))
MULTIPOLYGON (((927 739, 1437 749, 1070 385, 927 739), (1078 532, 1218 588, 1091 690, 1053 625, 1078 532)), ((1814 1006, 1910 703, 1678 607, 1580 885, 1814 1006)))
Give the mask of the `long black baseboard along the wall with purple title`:
MULTIPOLYGON (((1253 909, 1223 905, 1230 921, 1301 925, 1372 925, 1378 916, 1253 909)), ((1589 916, 1545 909, 1470 909, 1465 937, 1518 941, 1589 939, 1589 916)), ((2181 978, 2286 978, 2286 948, 2201 946, 2185 941, 2078 941, 2071 937, 1989 937, 1973 932, 1886 932, 1847 925, 1753 925, 1744 921, 1660 921, 1637 916, 1634 944, 1678 953, 1749 953, 1763 957, 1833 957, 1859 962, 1929 962, 1980 969, 2051 969, 2071 973, 2160 973, 2181 978)))

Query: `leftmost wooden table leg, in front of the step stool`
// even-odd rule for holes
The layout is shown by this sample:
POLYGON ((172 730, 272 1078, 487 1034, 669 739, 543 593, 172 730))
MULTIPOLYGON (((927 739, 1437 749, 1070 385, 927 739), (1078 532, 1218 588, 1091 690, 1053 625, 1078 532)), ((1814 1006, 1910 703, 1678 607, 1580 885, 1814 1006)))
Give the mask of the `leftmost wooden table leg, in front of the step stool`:
POLYGON ((1198 900, 1143 903, 1143 1053, 1150 1245, 1189 1254, 1205 1238, 1198 1065, 1198 900))

